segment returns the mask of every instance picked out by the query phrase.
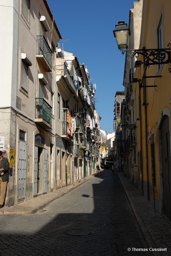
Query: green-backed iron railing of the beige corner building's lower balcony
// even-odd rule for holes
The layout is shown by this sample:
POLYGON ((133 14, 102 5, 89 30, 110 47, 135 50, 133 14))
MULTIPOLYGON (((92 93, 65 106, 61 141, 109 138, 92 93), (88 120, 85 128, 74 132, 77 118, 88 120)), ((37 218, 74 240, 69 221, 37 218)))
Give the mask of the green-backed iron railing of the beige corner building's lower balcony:
POLYGON ((52 107, 42 98, 35 98, 35 118, 43 119, 48 124, 52 124, 52 107))

